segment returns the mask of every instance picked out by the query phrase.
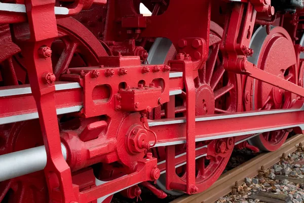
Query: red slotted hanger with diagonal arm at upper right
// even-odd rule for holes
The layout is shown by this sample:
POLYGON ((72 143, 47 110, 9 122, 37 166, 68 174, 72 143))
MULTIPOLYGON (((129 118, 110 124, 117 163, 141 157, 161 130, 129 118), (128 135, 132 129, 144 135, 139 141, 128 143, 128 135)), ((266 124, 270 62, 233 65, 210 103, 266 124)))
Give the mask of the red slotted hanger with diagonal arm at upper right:
POLYGON ((253 54, 252 49, 249 48, 249 43, 256 19, 255 7, 253 6, 253 1, 251 2, 252 4, 248 3, 247 5, 234 3, 232 13, 226 18, 224 39, 221 45, 225 56, 225 69, 247 75, 297 95, 304 96, 304 89, 302 87, 286 81, 284 78, 260 70, 247 60, 247 56, 252 56, 253 54), (246 14, 245 18, 243 18, 244 14, 246 14))

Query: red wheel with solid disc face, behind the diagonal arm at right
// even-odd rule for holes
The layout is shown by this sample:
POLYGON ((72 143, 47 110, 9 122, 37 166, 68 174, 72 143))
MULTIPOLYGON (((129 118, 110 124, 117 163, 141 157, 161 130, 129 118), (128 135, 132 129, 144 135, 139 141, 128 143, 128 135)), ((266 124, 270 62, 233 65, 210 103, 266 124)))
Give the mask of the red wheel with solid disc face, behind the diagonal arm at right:
MULTIPOLYGON (((267 35, 266 29, 259 27, 252 37, 250 47, 254 51, 253 56, 248 58, 250 62, 265 72, 297 84, 296 55, 292 40, 284 28, 272 27, 267 35)), ((246 90, 251 88, 251 85, 251 110, 287 109, 296 99, 296 95, 283 89, 255 79, 247 79, 246 90)), ((249 143, 263 151, 275 151, 283 145, 287 136, 286 130, 264 132, 250 139, 249 143)))

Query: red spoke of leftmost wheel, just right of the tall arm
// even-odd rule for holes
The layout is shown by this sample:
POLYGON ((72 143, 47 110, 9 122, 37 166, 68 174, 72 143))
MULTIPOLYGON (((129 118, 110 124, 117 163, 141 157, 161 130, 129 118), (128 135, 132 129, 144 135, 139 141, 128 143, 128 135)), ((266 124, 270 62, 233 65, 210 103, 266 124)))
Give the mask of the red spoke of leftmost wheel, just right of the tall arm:
POLYGON ((56 77, 60 76, 69 66, 73 55, 78 47, 78 43, 68 43, 64 48, 54 70, 56 77))

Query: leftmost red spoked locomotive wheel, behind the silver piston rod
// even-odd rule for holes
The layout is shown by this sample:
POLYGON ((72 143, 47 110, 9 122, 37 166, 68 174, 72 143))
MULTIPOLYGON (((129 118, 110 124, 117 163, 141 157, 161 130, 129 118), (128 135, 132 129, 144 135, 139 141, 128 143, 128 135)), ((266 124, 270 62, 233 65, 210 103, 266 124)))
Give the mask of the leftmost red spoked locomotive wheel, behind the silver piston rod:
MULTIPOLYGON (((67 67, 98 65, 98 58, 106 52, 94 35, 73 18, 59 19, 57 23, 58 38, 51 47, 54 73, 59 76, 67 67)), ((12 77, 3 77, 0 85, 28 83, 25 59, 12 42, 9 27, 0 27, 0 33, 0 68, 13 73, 12 77)), ((38 120, 0 127, 0 155, 44 144, 38 120)), ((48 202, 48 198, 44 171, 0 182, 0 202, 48 202)))

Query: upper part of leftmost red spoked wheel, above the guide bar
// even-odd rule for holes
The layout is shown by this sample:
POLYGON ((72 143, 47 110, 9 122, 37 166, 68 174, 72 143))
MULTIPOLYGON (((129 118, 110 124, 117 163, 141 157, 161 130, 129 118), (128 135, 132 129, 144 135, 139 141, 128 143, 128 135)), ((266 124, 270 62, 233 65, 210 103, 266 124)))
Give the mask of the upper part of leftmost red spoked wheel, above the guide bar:
MULTIPOLYGON (((58 38, 51 47, 53 72, 57 79, 68 67, 96 66, 99 64, 99 57, 107 55, 100 42, 77 20, 64 18, 58 19, 57 23, 58 38)), ((0 58, 2 68, 15 70, 18 83, 27 84, 25 59, 19 47, 12 42, 9 28, 4 29, 1 34, 0 44, 7 50, 2 55, 4 57, 0 58), (12 49, 6 49, 8 46, 12 49)))

